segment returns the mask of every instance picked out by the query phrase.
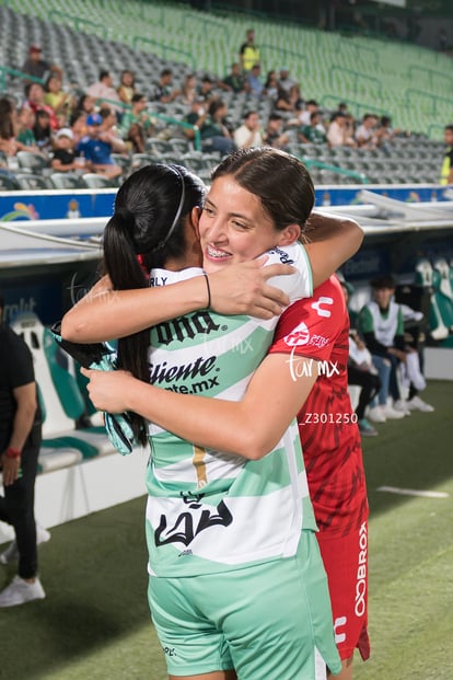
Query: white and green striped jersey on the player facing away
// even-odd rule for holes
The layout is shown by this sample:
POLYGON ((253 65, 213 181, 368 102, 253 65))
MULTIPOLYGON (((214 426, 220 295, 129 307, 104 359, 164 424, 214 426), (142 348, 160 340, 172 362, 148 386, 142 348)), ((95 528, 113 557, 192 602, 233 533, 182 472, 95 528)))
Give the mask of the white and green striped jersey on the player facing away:
MULTIPOLYGON (((292 264, 297 274, 271 285, 291 302, 312 295, 310 264, 299 243, 271 251, 266 264, 276 262, 292 264)), ((150 283, 200 274, 153 270, 150 283)), ((159 324, 151 331, 151 382, 181 394, 240 401, 277 322, 202 310, 159 324)), ((302 528, 315 529, 295 420, 258 461, 198 447, 153 424, 149 434, 151 574, 195 576, 291 556, 302 528)))

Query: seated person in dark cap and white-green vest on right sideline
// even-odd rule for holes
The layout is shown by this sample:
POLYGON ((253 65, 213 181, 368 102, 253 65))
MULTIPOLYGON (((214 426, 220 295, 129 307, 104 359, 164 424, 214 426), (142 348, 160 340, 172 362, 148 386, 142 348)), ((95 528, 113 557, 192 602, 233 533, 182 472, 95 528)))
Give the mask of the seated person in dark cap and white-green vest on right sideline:
MULTIPOLYGON (((370 408, 369 416, 374 422, 385 422, 386 418, 400 418, 410 413, 406 401, 402 397, 397 369, 400 364, 410 365, 418 355, 416 349, 406 344, 404 337, 404 318, 399 304, 393 300, 395 279, 392 276, 381 276, 371 281, 374 300, 365 304, 359 314, 359 331, 371 351, 373 364, 381 378, 379 405, 370 408), (415 355, 409 358, 410 355, 415 355), (390 365, 388 391, 393 405, 386 399, 386 372, 390 365)), ((426 387, 420 369, 411 370, 414 384, 413 396, 426 387)), ((421 400, 420 400, 421 401, 421 400)))

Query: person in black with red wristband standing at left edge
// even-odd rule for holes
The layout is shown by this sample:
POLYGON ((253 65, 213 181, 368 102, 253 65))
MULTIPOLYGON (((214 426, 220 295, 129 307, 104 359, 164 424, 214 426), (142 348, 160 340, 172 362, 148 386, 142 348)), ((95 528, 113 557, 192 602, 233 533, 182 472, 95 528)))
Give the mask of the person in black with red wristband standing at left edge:
POLYGON ((0 520, 14 528, 15 540, 0 555, 8 564, 19 560, 18 575, 0 592, 0 607, 15 607, 46 597, 37 576, 37 549, 50 534, 37 528, 34 489, 42 425, 32 354, 24 341, 3 323, 0 295, 0 465, 4 495, 0 520))

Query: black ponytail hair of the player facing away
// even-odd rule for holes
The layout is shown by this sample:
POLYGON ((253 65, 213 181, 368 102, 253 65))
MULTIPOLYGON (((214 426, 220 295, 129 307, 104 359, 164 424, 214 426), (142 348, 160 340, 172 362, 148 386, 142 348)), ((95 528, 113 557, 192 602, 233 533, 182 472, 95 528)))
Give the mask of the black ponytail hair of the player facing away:
MULTIPOLYGON (((146 288, 146 270, 186 252, 184 221, 202 207, 204 183, 181 165, 151 164, 130 175, 118 189, 115 212, 104 230, 104 269, 115 290, 146 288)), ((149 330, 118 341, 118 368, 149 382, 149 330)), ((130 414, 136 439, 147 442, 141 416, 130 414)))

